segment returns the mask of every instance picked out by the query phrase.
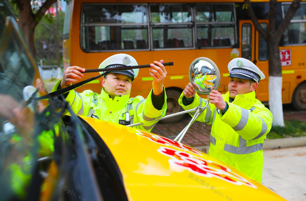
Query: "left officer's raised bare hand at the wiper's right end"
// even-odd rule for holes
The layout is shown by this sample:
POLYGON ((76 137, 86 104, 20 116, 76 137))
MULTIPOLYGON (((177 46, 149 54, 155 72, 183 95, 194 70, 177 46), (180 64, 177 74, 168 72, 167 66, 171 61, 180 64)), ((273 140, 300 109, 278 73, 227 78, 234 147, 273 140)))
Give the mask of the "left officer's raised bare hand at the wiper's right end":
POLYGON ((150 71, 150 75, 153 78, 152 86, 153 86, 153 94, 155 96, 159 96, 162 94, 162 91, 164 90, 163 88, 163 83, 166 78, 166 68, 164 65, 163 60, 160 60, 160 62, 154 61, 154 64, 151 63, 150 66, 152 67, 150 71))

